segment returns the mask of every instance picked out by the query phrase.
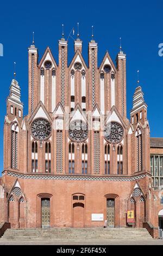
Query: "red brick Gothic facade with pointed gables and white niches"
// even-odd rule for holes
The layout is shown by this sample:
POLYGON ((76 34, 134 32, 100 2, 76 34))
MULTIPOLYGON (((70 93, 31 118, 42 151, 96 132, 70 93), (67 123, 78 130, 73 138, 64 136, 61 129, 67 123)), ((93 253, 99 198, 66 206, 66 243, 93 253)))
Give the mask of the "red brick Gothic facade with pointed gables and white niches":
MULTIPOLYGON (((4 122, 4 170, 0 179, 0 222, 11 228, 158 227, 161 190, 153 189, 150 130, 141 87, 126 106, 126 55, 116 65, 106 52, 97 65, 91 40, 89 61, 74 41, 59 40, 59 62, 47 47, 38 63, 28 49, 29 104, 23 117, 20 86, 12 80, 4 122)), ((163 208, 163 207, 162 207, 163 208)))

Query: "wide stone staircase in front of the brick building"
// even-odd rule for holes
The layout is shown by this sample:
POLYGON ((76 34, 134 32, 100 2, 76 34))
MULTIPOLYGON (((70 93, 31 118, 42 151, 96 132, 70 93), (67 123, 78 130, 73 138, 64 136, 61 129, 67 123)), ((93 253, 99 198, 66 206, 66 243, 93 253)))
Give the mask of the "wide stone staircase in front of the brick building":
POLYGON ((51 228, 51 229, 7 229, 0 242, 7 241, 45 241, 45 240, 73 240, 73 241, 106 241, 110 240, 152 240, 152 236, 144 228, 51 228))

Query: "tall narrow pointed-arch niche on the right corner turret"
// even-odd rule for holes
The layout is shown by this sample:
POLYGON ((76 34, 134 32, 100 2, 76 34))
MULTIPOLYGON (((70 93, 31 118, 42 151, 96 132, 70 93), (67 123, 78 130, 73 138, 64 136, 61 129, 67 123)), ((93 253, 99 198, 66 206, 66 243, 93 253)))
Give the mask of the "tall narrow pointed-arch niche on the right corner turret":
POLYGON ((136 130, 136 172, 142 171, 142 133, 136 130))

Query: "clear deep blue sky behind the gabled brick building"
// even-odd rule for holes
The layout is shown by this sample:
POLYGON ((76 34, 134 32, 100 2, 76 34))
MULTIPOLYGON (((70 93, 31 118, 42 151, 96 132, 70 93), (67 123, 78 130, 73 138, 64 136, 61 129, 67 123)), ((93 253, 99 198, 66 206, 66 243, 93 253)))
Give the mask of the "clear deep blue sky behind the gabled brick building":
MULTIPOLYGON (((162 93, 163 57, 158 55, 158 45, 163 43, 163 1, 1 1, 0 43, 4 56, 0 57, 1 111, 0 111, 0 169, 3 170, 3 123, 6 113, 5 99, 13 78, 14 61, 16 79, 21 86, 24 114, 28 110, 28 46, 39 49, 39 59, 46 46, 51 47, 58 63, 58 40, 61 24, 65 24, 65 38, 79 22, 80 38, 83 40, 83 56, 87 62, 87 44, 94 25, 98 43, 98 64, 108 50, 115 61, 119 38, 127 54, 127 110, 128 117, 135 90, 137 73, 148 104, 151 136, 163 136, 162 93)), ((73 56, 73 40, 68 41, 68 61, 73 56)))

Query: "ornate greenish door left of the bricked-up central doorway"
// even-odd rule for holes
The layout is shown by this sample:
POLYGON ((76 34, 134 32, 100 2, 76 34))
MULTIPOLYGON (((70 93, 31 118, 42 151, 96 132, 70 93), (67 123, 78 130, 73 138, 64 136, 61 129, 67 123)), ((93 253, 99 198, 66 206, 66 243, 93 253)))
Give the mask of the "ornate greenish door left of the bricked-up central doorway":
POLYGON ((49 228, 50 227, 50 199, 49 198, 41 198, 41 228, 49 228))

